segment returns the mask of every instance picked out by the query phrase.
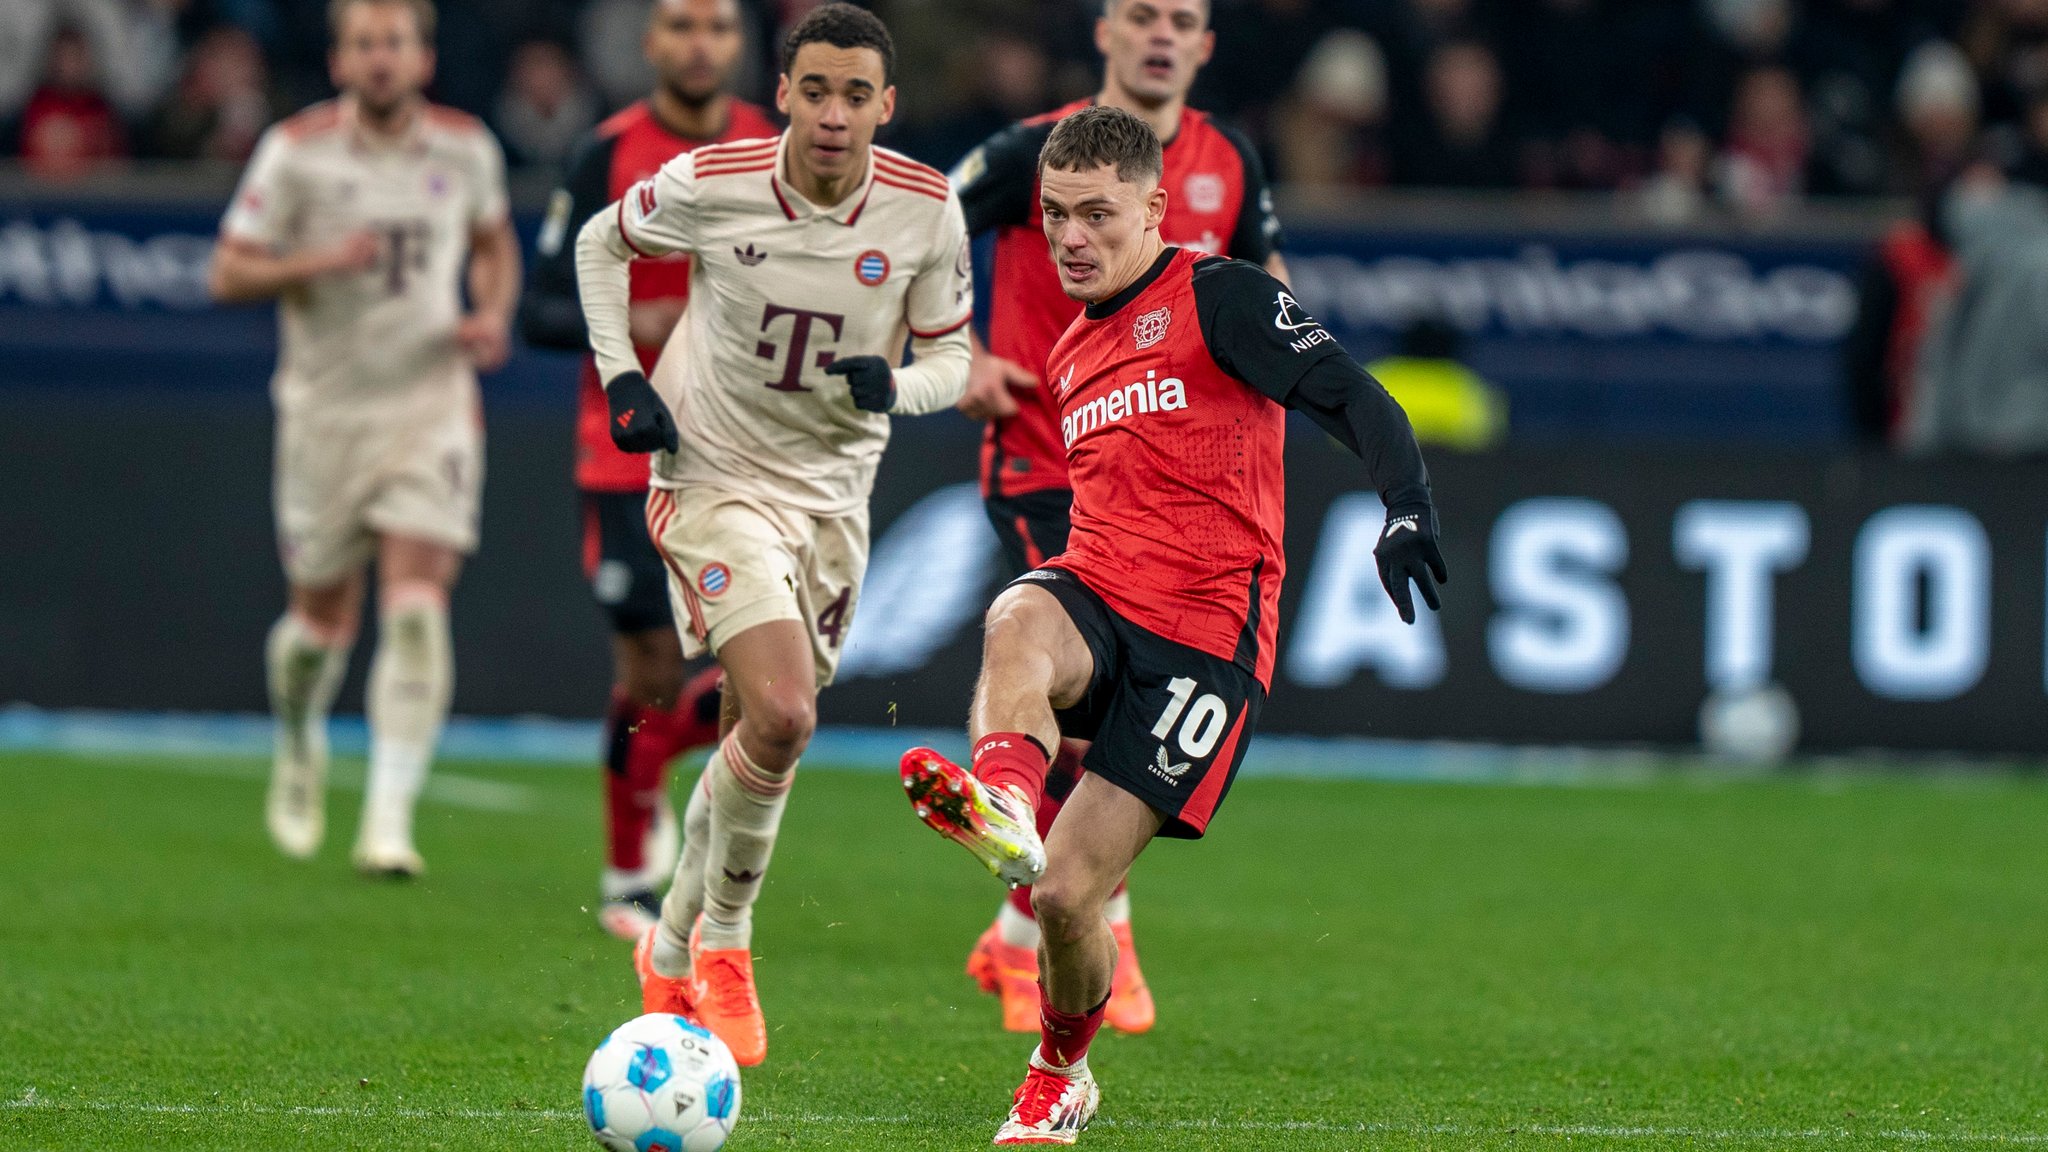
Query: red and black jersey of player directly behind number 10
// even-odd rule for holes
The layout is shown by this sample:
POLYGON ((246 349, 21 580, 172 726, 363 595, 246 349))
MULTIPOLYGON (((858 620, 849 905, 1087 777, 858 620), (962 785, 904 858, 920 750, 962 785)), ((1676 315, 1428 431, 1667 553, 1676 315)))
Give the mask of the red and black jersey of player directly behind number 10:
MULTIPOLYGON (((952 170, 967 211, 967 232, 995 230, 993 291, 987 293, 987 346, 1044 379, 1053 340, 1081 314, 1059 287, 1059 273, 1038 225, 1038 150, 1053 125, 1087 107, 1077 100, 991 135, 952 170)), ((1280 248, 1272 191, 1251 143, 1206 113, 1186 109, 1165 141, 1165 223, 1159 236, 1180 248, 1264 264, 1280 248)), ((1049 383, 1049 381, 1047 381, 1049 383)), ((1051 389, 1016 394, 1020 412, 995 420, 981 439, 981 494, 1020 496, 1067 488, 1051 389)))

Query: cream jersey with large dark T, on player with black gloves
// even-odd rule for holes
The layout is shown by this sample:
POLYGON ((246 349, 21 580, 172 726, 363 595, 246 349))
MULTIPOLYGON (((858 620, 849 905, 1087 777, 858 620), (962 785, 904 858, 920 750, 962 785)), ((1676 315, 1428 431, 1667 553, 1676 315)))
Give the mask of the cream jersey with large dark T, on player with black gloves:
POLYGON ((690 307, 653 371, 682 451, 657 453, 651 482, 831 517, 866 504, 889 416, 854 408, 825 369, 860 355, 897 365, 915 340, 895 412, 950 406, 967 385, 973 266, 940 172, 874 148, 860 187, 817 207, 782 178, 786 139, 676 156, 590 228, 612 225, 614 254, 694 258, 690 307))

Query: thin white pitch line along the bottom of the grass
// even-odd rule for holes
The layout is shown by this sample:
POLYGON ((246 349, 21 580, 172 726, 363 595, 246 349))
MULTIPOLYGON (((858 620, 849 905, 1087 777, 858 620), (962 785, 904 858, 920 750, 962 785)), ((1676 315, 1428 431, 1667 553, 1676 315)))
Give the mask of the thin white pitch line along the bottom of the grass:
MULTIPOLYGON (((311 1115, 348 1119, 584 1119, 575 1109, 410 1109, 410 1107, 344 1107, 344 1105, 152 1105, 127 1101, 53 1101, 37 1093, 27 1093, 12 1101, 0 1101, 8 1111, 100 1111, 100 1113, 141 1113, 141 1115, 311 1115)), ((928 1117, 913 1115, 834 1115, 809 1111, 766 1111, 741 1113, 752 1123, 819 1123, 831 1127, 852 1125, 936 1125, 928 1117)), ((1712 1144, 1784 1144, 1810 1142, 1829 1144, 1845 1140, 1888 1140, 1894 1144, 2011 1144, 2042 1146, 2048 1134, 2040 1132, 1925 1132, 1925 1129, 1874 1129, 1853 1132, 1847 1127, 1659 1127, 1659 1125, 1599 1125, 1599 1123, 1518 1123, 1518 1125, 1475 1125, 1475 1123, 1382 1123, 1382 1121, 1331 1121, 1331 1119, 1161 1119, 1161 1121, 1118 1121, 1102 1117, 1102 1127, 1128 1132, 1319 1132, 1358 1136, 1458 1136, 1458 1138, 1499 1138, 1499 1136, 1587 1136, 1599 1140, 1700 1140, 1712 1144)))

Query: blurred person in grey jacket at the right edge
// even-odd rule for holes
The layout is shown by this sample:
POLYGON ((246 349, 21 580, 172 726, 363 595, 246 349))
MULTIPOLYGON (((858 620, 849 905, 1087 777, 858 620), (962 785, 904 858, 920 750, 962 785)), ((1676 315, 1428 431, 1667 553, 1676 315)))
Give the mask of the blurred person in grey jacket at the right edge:
POLYGON ((1907 447, 2048 455, 2048 189, 1972 168, 1939 225, 1958 283, 1919 348, 1907 447))

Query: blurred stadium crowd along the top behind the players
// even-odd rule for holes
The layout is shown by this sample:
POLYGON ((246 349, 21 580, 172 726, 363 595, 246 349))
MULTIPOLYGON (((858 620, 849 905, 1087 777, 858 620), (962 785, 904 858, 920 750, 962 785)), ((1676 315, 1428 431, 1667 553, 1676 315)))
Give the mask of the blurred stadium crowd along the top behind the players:
MULTIPOLYGON (((442 102, 557 164, 647 86, 647 0, 442 0, 442 102)), ((813 0, 750 6, 768 45, 813 0)), ((899 29, 891 143, 948 164, 1087 94, 1090 0, 874 0, 899 29)), ((238 164, 328 92, 326 0, 8 0, 4 152, 51 178, 123 158, 238 164)), ((1196 105, 1307 187, 1634 189, 1665 217, 1913 195, 2025 152, 2048 0, 1217 0, 1196 105)))

